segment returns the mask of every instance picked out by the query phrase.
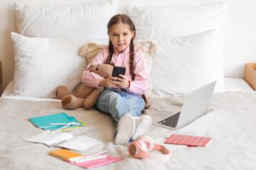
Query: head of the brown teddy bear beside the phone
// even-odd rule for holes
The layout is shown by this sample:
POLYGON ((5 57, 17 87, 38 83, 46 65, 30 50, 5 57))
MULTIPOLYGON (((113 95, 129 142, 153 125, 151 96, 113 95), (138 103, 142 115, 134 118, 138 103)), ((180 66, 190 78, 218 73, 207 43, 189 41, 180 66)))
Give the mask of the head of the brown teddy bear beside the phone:
POLYGON ((92 64, 90 72, 95 72, 100 77, 107 78, 112 75, 114 64, 92 64))

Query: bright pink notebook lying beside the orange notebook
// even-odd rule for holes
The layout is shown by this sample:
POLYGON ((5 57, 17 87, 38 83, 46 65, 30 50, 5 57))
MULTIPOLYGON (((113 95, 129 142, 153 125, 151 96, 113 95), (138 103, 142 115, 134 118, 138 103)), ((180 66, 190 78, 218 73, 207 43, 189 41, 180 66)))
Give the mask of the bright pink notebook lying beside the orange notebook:
POLYGON ((105 165, 105 164, 110 164, 112 162, 117 162, 117 161, 120 161, 122 159, 123 159, 122 157, 107 156, 107 157, 102 158, 102 159, 96 159, 96 160, 92 160, 92 161, 88 161, 88 162, 80 162, 80 163, 70 162, 70 164, 75 164, 75 165, 83 167, 83 168, 91 169, 91 168, 95 168, 97 166, 102 166, 102 165, 105 165))

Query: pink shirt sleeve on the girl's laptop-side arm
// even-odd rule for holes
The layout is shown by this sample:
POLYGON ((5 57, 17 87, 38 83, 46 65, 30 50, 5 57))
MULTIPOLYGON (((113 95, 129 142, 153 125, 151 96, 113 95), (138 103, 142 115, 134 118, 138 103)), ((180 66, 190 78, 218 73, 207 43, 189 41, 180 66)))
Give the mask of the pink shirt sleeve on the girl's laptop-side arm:
POLYGON ((143 52, 139 50, 135 51, 135 54, 137 59, 134 62, 135 78, 134 81, 130 81, 130 86, 127 89, 127 92, 142 95, 146 94, 146 90, 149 89, 149 69, 143 52))

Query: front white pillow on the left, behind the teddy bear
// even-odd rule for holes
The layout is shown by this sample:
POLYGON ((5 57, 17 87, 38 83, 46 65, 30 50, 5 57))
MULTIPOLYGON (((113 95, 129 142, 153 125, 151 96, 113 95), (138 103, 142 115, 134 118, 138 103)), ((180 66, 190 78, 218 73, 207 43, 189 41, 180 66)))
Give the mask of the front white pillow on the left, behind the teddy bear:
POLYGON ((11 33, 11 38, 15 55, 14 95, 55 98, 60 85, 75 92, 87 66, 78 53, 89 40, 27 38, 16 33, 11 33))

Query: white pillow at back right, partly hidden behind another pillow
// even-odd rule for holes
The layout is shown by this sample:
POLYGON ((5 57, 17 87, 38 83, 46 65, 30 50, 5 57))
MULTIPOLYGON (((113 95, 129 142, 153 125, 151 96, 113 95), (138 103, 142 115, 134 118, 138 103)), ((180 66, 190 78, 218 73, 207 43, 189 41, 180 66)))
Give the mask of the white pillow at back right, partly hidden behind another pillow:
POLYGON ((226 2, 202 6, 137 7, 129 6, 138 39, 177 38, 206 30, 223 28, 226 2))

